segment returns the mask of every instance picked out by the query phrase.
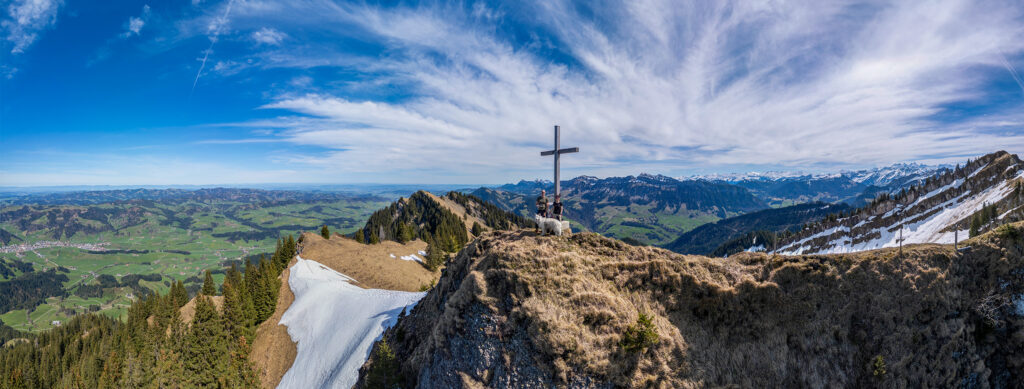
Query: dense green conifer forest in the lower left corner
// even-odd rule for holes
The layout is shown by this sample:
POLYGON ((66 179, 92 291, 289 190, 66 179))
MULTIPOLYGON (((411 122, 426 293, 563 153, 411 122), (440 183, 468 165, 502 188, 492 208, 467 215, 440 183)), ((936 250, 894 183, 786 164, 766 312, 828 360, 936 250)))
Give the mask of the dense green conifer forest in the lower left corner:
POLYGON ((179 280, 141 296, 123 321, 86 313, 37 335, 0 334, 27 337, 0 349, 0 388, 257 388, 253 334, 273 313, 295 252, 292 236, 280 240, 270 258, 227 269, 219 291, 207 272, 190 303, 179 280))

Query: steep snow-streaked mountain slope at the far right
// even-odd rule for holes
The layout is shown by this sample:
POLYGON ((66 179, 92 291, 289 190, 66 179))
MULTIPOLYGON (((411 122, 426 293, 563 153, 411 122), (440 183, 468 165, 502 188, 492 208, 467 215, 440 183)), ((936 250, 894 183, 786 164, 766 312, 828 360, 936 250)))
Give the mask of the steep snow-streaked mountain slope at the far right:
MULTIPOLYGON (((908 168, 921 171, 915 170, 920 167, 908 168)), ((890 173, 879 171, 863 178, 893 182, 898 174, 890 173)), ((964 241, 972 223, 985 229, 1024 218, 1022 181, 1024 164, 1017 156, 990 154, 964 168, 927 178, 898 194, 884 196, 850 216, 806 228, 781 243, 777 251, 829 254, 896 247, 901 228, 905 244, 952 244, 957 237, 964 241)))

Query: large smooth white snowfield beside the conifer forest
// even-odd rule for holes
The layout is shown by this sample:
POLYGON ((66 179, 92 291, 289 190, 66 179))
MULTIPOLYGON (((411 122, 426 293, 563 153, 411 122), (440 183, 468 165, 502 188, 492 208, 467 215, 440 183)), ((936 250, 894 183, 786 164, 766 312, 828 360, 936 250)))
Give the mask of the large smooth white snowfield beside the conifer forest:
POLYGON ((351 388, 374 342, 426 293, 362 289, 316 261, 296 258, 288 285, 295 301, 281 317, 297 343, 278 388, 351 388))

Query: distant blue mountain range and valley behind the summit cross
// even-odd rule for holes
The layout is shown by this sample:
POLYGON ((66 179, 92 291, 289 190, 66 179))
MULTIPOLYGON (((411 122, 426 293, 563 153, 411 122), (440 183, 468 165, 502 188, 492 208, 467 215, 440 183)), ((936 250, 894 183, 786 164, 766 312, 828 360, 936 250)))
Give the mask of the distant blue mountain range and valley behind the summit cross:
MULTIPOLYGON (((681 253, 710 254, 729 240, 743 235, 753 239, 750 234, 758 229, 740 231, 733 226, 706 229, 699 231, 706 241, 697 246, 683 244, 689 237, 681 235, 707 223, 769 208, 811 203, 844 203, 858 207, 881 193, 898 192, 948 169, 945 166, 896 164, 835 174, 769 172, 685 178, 651 174, 608 178, 581 176, 562 181, 561 185, 565 216, 586 229, 632 243, 665 245, 681 253), (711 231, 721 233, 709 234, 711 231), (674 242, 680 239, 682 241, 674 242)), ((541 189, 547 189, 550 196, 552 187, 548 180, 521 180, 463 191, 527 216, 535 212, 535 199, 541 189)), ((779 224, 769 223, 758 228, 772 234, 792 230, 794 226, 817 221, 843 208, 828 208, 820 215, 804 212, 805 208, 769 213, 779 224), (810 215, 816 218, 808 218, 810 215)), ((740 219, 724 225, 749 226, 750 222, 740 219)))

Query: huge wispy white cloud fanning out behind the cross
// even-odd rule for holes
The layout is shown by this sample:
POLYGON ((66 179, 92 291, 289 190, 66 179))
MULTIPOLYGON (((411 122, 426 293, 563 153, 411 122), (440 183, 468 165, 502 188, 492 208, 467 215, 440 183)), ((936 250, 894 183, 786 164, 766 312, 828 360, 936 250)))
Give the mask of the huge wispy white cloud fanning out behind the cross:
MULTIPOLYGON (((250 125, 334 150, 298 162, 437 176, 544 169, 549 162, 537 152, 550 146, 554 124, 566 144, 583 148, 571 164, 593 172, 863 166, 1024 150, 1019 125, 937 119, 1011 77, 1002 53, 1024 53, 1024 5, 1016 1, 647 0, 584 11, 543 1, 524 5, 536 9, 525 27, 546 37, 534 42, 495 28, 494 17, 514 12, 479 4, 301 6, 246 4, 240 18, 274 18, 296 40, 301 20, 385 45, 385 55, 358 70, 374 75, 367 84, 386 79, 412 96, 280 96, 264 107, 301 116, 250 125)), ((274 55, 291 59, 267 63, 303 68, 343 56, 315 47, 282 48, 274 55)), ((1021 123, 1022 107, 995 115, 1021 123)))

